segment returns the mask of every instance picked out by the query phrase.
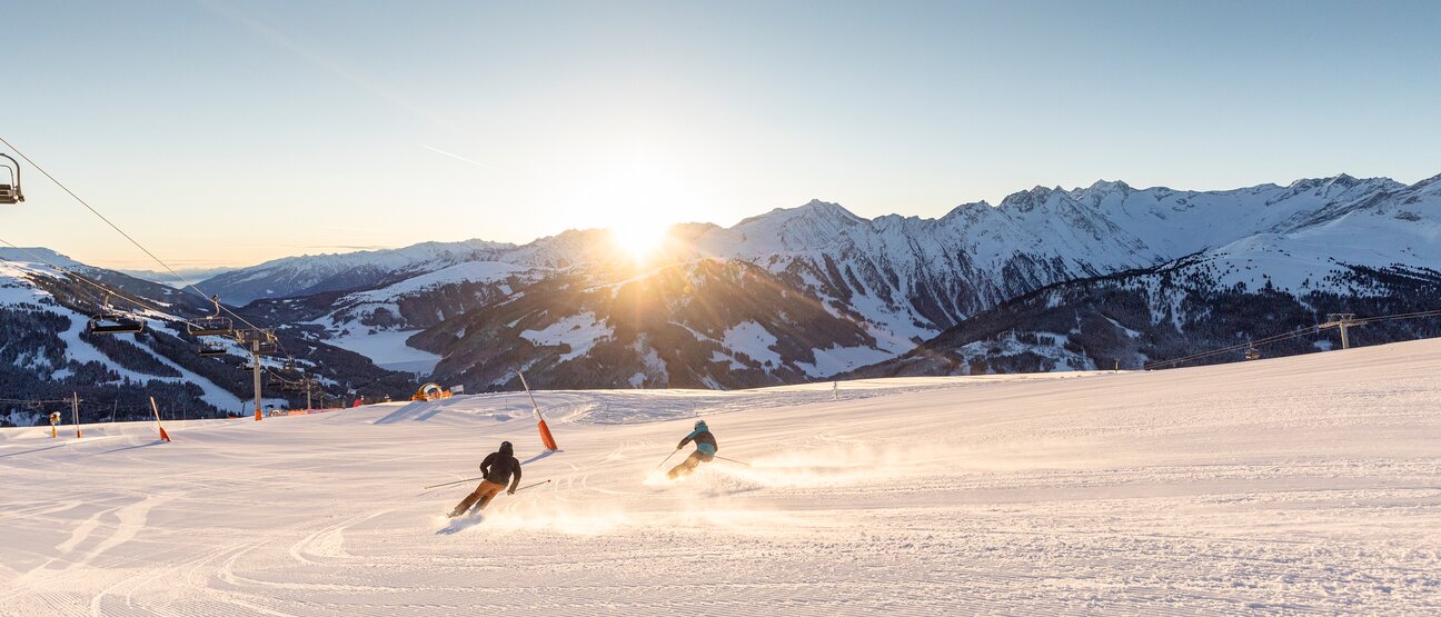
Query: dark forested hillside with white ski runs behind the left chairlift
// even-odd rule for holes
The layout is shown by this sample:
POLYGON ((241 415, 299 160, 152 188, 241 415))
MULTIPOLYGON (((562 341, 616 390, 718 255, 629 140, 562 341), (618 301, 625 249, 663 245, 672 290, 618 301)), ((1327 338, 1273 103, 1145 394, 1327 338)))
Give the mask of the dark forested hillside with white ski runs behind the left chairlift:
MULTIPOLYGON (((212 310, 193 290, 89 267, 46 249, 0 251, 0 421, 29 424, 55 411, 45 401, 53 407, 53 401, 75 394, 82 398, 82 418, 146 417, 151 396, 161 409, 184 408, 190 417, 242 411, 254 386, 251 375, 238 368, 248 365, 249 353, 231 339, 209 337, 220 342, 225 353, 200 356, 200 340, 184 324, 212 310), (117 288, 121 291, 107 300, 107 290, 117 288), (86 324, 107 301, 112 311, 143 319, 144 332, 91 333, 86 324)), ((281 379, 297 379, 293 369, 316 379, 320 388, 311 399, 317 402, 337 391, 382 396, 414 388, 409 375, 379 369, 343 349, 305 345, 284 333, 280 343, 285 358, 261 360, 268 368, 265 404, 307 404, 303 392, 287 396, 282 391, 281 379), (295 365, 287 369, 290 358, 295 365)), ((396 347, 405 349, 402 342, 396 347)))

